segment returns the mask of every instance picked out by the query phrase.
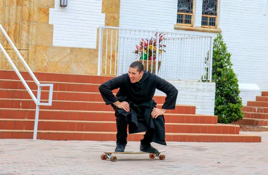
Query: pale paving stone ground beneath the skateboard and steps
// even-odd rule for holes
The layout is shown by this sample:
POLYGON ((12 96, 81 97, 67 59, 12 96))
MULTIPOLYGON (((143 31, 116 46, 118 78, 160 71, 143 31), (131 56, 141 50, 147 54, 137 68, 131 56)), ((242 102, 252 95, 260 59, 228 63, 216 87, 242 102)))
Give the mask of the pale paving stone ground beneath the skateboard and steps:
MULTIPOLYGON (((166 159, 147 154, 115 155, 115 142, 0 139, 0 175, 268 175, 268 132, 240 132, 262 136, 261 143, 168 142, 152 144, 167 150, 166 159)), ((129 142, 126 151, 139 149, 129 142)))

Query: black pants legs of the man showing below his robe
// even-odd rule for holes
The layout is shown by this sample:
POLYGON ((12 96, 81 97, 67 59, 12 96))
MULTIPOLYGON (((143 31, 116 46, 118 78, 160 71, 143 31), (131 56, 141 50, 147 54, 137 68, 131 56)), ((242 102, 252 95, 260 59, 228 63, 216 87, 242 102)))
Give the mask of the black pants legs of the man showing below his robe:
MULTIPOLYGON (((116 144, 127 144, 127 127, 128 123, 124 116, 122 115, 116 115, 116 128, 117 128, 117 134, 116 134, 116 144)), ((143 143, 149 144, 153 140, 153 129, 149 129, 146 131, 143 143)))

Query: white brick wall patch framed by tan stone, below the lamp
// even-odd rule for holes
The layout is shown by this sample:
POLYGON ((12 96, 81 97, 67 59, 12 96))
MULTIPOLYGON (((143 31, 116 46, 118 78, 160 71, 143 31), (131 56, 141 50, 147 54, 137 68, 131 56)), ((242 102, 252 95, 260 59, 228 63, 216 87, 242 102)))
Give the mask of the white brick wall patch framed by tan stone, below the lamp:
POLYGON ((53 45, 96 49, 97 28, 105 24, 101 8, 102 0, 68 0, 67 7, 55 0, 55 8, 49 12, 53 45))

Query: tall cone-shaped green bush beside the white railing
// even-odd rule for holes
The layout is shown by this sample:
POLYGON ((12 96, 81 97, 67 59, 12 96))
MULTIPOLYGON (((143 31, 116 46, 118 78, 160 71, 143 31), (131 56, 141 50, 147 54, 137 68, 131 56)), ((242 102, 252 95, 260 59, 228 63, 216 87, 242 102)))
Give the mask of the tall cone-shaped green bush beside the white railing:
POLYGON ((213 43, 212 81, 216 83, 214 115, 219 123, 231 123, 243 118, 238 78, 231 68, 231 54, 222 35, 213 43))

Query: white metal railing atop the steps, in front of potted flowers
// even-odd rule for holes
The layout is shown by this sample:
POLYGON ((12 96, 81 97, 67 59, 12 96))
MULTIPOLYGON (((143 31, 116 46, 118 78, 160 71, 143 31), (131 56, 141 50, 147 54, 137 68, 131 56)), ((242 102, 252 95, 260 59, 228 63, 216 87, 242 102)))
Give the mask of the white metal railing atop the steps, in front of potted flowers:
POLYGON ((101 26, 98 46, 98 75, 127 73, 129 65, 142 58, 145 70, 162 78, 211 81, 213 39, 210 35, 101 26), (154 43, 153 50, 146 46, 148 40, 154 43))

